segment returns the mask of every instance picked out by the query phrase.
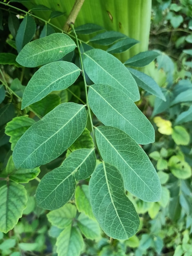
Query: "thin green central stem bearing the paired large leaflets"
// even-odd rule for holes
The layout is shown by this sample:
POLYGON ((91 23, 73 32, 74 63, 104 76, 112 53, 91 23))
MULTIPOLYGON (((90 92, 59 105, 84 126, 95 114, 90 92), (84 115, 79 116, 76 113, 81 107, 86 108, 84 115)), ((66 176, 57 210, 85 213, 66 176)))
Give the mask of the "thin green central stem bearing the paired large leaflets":
POLYGON ((77 48, 78 48, 78 52, 79 52, 79 58, 80 58, 80 65, 81 65, 81 73, 82 73, 82 76, 83 76, 83 81, 84 81, 84 85, 85 85, 85 97, 86 97, 86 103, 87 103, 87 109, 88 109, 88 112, 89 112, 89 119, 90 119, 90 122, 91 122, 91 126, 92 126, 92 133, 93 133, 93 137, 94 137, 94 141, 95 141, 95 136, 94 136, 94 125, 93 125, 93 121, 92 121, 92 114, 91 114, 91 109, 89 107, 89 101, 88 101, 88 93, 87 93, 87 81, 86 81, 86 78, 85 78, 85 71, 84 71, 84 67, 83 67, 83 60, 82 60, 82 56, 81 56, 81 52, 80 52, 80 47, 79 47, 79 42, 78 42, 78 38, 77 38, 77 34, 76 34, 76 31, 74 29, 74 25, 71 24, 71 28, 75 34, 75 38, 76 38, 76 43, 77 43, 77 48))

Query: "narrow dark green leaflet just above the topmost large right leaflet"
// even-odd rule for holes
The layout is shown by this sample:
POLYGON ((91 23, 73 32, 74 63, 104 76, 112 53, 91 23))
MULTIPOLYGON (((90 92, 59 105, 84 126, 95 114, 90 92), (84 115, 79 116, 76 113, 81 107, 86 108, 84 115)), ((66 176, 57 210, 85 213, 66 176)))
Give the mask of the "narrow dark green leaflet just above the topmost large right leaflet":
POLYGON ((98 45, 111 45, 121 38, 127 38, 124 34, 117 31, 105 31, 94 37, 92 37, 89 42, 98 44, 98 45))

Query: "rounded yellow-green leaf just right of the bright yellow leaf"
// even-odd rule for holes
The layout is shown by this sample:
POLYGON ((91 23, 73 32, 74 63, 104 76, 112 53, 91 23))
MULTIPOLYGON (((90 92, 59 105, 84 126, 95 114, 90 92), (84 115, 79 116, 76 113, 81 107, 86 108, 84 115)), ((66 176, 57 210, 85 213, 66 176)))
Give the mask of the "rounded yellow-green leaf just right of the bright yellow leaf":
POLYGON ((182 126, 174 126, 171 136, 177 145, 188 145, 190 143, 190 135, 182 126))

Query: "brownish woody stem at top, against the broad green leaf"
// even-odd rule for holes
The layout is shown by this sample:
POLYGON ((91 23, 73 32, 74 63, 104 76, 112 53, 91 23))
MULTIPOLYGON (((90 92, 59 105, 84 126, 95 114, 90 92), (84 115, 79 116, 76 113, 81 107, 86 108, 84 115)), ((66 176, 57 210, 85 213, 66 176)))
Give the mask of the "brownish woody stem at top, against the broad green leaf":
POLYGON ((67 21, 65 22, 65 25, 63 27, 63 30, 65 32, 69 32, 69 29, 71 28, 71 24, 75 23, 75 20, 78 16, 78 13, 83 5, 83 2, 85 0, 76 0, 74 3, 74 6, 69 14, 69 17, 67 18, 67 21))

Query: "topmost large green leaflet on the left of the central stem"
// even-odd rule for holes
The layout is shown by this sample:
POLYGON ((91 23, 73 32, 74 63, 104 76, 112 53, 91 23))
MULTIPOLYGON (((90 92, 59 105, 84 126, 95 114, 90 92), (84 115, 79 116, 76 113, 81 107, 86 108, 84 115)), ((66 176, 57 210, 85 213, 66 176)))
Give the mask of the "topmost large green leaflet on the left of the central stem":
POLYGON ((76 44, 69 36, 55 33, 25 45, 16 61, 24 67, 38 67, 59 61, 75 48, 76 44))

